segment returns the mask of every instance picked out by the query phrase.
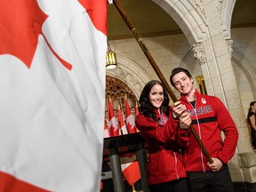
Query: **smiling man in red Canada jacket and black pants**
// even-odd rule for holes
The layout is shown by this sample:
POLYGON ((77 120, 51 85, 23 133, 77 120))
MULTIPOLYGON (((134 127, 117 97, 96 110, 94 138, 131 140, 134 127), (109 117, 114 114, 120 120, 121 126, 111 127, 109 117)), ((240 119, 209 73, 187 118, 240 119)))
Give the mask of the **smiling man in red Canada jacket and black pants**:
POLYGON ((238 132, 227 108, 217 97, 197 92, 194 79, 185 68, 174 68, 170 81, 180 92, 180 101, 187 108, 192 125, 213 161, 212 164, 208 162, 191 135, 184 164, 192 191, 234 191, 227 164, 234 156, 238 132), (225 140, 221 139, 221 132, 224 132, 225 140))

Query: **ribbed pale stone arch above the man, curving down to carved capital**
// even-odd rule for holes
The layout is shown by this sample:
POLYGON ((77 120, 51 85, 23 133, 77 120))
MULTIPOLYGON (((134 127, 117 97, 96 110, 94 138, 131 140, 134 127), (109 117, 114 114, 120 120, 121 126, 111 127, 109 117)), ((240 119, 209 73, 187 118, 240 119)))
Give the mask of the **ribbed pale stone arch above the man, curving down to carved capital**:
POLYGON ((200 1, 152 0, 167 12, 179 25, 189 44, 203 42, 207 31, 204 7, 200 1))

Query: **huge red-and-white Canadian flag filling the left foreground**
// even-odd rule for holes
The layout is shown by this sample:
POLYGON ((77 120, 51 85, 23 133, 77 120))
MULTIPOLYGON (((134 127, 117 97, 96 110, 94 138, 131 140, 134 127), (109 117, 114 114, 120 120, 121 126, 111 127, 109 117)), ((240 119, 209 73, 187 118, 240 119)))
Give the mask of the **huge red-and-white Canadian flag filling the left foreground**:
POLYGON ((0 191, 100 191, 106 18, 106 0, 0 0, 0 191))

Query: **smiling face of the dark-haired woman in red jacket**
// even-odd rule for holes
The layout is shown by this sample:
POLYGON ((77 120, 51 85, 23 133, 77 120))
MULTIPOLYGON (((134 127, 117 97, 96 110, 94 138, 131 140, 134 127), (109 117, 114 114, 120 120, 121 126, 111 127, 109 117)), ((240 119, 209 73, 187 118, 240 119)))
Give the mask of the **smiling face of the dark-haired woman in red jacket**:
POLYGON ((149 102, 155 108, 160 108, 164 101, 164 89, 160 84, 155 84, 149 92, 149 102))

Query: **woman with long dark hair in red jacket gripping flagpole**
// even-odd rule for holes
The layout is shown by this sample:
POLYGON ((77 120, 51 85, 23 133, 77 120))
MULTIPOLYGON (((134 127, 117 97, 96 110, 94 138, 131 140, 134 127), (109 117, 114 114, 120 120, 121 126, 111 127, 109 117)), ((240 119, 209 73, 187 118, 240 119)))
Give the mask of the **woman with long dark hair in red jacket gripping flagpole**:
POLYGON ((136 126, 148 144, 147 180, 151 192, 189 191, 180 148, 188 145, 191 118, 180 101, 169 107, 164 85, 152 80, 140 95, 136 126))

